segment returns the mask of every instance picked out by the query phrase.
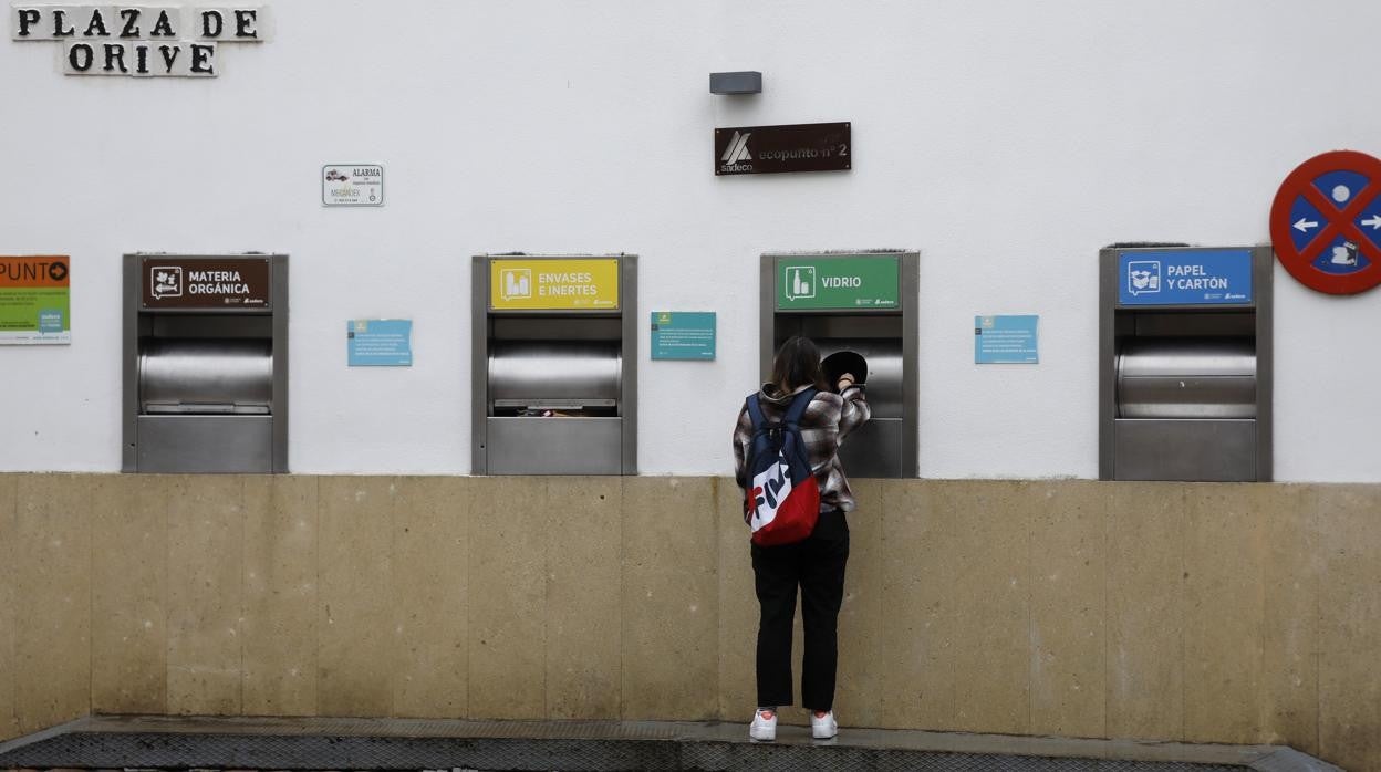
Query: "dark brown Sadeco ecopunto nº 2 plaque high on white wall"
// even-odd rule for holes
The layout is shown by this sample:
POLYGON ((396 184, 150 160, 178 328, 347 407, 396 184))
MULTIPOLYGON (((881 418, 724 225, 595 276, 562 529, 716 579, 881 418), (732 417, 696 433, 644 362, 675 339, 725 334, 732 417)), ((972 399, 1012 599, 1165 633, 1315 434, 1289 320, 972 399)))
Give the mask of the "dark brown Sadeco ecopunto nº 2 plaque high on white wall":
POLYGON ((714 130, 714 173, 840 171, 853 163, 849 123, 740 126, 714 130))

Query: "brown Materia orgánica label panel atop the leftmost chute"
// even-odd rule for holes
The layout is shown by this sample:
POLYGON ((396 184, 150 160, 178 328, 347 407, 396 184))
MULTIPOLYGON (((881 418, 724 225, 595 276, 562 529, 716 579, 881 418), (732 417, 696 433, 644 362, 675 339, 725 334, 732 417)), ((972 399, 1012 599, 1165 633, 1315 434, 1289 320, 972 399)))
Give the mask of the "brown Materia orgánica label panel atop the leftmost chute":
POLYGON ((144 308, 269 308, 267 257, 145 257, 144 308))

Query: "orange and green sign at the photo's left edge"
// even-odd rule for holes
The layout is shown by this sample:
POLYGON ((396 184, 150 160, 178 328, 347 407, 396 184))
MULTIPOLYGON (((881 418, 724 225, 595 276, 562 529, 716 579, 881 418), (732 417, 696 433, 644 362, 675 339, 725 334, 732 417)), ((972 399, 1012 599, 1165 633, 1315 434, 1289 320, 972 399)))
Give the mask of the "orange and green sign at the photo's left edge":
POLYGON ((0 257, 0 344, 72 342, 70 258, 0 257))

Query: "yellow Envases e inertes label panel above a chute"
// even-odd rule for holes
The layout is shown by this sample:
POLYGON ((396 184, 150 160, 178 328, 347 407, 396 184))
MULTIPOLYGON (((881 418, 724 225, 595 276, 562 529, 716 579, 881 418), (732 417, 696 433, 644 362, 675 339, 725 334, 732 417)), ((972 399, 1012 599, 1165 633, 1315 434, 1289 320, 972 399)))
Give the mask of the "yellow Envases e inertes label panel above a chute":
POLYGON ((494 311, 616 309, 619 261, 492 260, 489 305, 494 311))

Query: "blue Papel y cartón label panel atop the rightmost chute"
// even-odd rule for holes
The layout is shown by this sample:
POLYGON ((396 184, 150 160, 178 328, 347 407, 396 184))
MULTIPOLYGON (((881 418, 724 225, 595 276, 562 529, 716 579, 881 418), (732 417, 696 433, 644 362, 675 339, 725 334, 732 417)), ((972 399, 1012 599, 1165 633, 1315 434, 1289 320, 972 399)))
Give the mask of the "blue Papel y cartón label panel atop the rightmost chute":
POLYGON ((1117 298, 1121 305, 1251 302, 1251 250, 1124 251, 1117 298))

